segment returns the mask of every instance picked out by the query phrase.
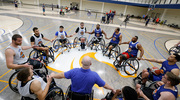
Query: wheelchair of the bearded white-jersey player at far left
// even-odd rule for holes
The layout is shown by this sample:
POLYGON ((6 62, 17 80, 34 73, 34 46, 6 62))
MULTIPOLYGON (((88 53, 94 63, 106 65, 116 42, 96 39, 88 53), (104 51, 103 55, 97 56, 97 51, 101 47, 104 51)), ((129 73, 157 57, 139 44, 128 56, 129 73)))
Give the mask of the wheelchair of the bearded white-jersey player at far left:
MULTIPOLYGON (((39 75, 40 77, 42 77, 43 74, 48 74, 48 69, 46 68, 46 65, 43 62, 34 59, 29 59, 28 62, 30 63, 30 65, 33 65, 33 71, 35 75, 39 75)), ((16 93, 18 93, 17 74, 19 71, 20 69, 15 70, 15 72, 9 78, 9 87, 12 91, 16 93)))

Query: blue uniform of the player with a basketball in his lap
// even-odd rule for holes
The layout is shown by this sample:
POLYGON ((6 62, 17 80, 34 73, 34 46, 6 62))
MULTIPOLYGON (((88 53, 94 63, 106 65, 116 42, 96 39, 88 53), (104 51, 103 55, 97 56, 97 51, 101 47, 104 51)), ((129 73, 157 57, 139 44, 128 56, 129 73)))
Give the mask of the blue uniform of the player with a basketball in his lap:
POLYGON ((162 76, 164 76, 164 74, 166 74, 166 72, 171 72, 172 69, 179 69, 179 67, 176 64, 169 65, 168 60, 164 61, 162 63, 162 67, 160 68, 161 74, 158 76, 153 75, 153 81, 161 81, 162 76))

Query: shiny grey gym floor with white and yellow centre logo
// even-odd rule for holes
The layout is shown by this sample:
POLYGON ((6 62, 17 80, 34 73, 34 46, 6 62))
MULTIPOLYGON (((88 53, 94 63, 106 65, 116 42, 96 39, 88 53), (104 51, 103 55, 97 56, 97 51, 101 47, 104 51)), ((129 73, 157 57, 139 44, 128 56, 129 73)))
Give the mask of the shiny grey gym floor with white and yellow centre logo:
MULTIPOLYGON (((87 16, 85 11, 77 11, 60 16, 57 9, 54 11, 51 8, 46 8, 46 16, 42 15, 42 7, 23 5, 17 9, 14 8, 13 4, 0 3, 0 100, 20 100, 20 95, 14 93, 8 85, 8 80, 14 70, 10 70, 6 67, 5 61, 5 49, 11 43, 11 37, 13 34, 21 34, 23 36, 23 46, 30 45, 30 36, 33 34, 32 28, 38 27, 40 33, 48 39, 52 39, 56 31, 59 30, 59 26, 63 25, 64 30, 68 35, 75 32, 76 28, 79 27, 80 22, 85 23, 87 31, 95 29, 96 24, 100 23, 102 14, 92 13, 91 16, 87 16), (96 15, 97 14, 97 15, 96 15)), ((116 27, 120 27, 120 23, 124 20, 119 16, 115 16, 113 24, 101 24, 107 37, 110 37, 116 27)), ((179 30, 172 29, 161 25, 152 25, 148 27, 144 26, 143 20, 130 19, 127 27, 124 24, 120 27, 122 33, 122 41, 129 41, 135 35, 139 37, 139 42, 144 48, 144 58, 156 58, 166 59, 169 54, 167 48, 172 47, 180 39, 179 30), (170 42, 173 40, 173 42, 170 42), (169 42, 169 43, 166 43, 169 42)), ((88 40, 94 35, 86 34, 88 40)), ((74 37, 68 38, 73 42, 74 37)), ((108 43, 109 40, 105 39, 108 43)), ((44 41, 45 45, 52 46, 51 42, 44 41)), ((128 45, 120 45, 121 52, 128 48, 128 45)), ((28 56, 32 49, 24 51, 25 55, 28 56)), ((77 48, 72 48, 70 52, 64 51, 55 53, 56 61, 49 64, 48 70, 51 72, 62 72, 68 71, 72 68, 79 68, 82 58, 88 55, 92 58, 91 70, 96 71, 100 77, 115 89, 121 89, 124 86, 134 87, 133 78, 136 77, 143 69, 148 67, 161 67, 156 63, 148 61, 139 61, 140 68, 138 73, 132 76, 126 75, 123 71, 116 71, 112 62, 114 59, 109 59, 102 55, 101 51, 90 50, 87 48, 86 51, 78 51, 77 48)), ((180 66, 180 63, 177 63, 180 66)), ((70 80, 67 79, 56 79, 56 83, 59 87, 66 92, 67 87, 71 84, 70 80)), ((178 88, 180 86, 178 85, 178 88)), ((95 85, 94 98, 99 100, 110 92, 109 90, 103 89, 95 85)))

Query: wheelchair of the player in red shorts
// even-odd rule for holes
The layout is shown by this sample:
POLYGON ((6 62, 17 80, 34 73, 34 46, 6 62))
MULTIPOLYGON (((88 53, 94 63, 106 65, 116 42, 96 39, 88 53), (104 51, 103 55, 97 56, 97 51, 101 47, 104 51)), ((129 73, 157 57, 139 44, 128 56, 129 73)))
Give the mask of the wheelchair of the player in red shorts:
POLYGON ((121 63, 121 65, 119 64, 120 62, 120 56, 123 54, 119 54, 115 61, 113 62, 113 65, 116 67, 117 70, 119 70, 119 68, 122 70, 122 68, 124 68, 124 72, 127 75, 133 75, 135 73, 137 73, 138 69, 139 69, 139 61, 136 59, 136 57, 132 57, 126 60, 123 60, 123 62, 121 63))

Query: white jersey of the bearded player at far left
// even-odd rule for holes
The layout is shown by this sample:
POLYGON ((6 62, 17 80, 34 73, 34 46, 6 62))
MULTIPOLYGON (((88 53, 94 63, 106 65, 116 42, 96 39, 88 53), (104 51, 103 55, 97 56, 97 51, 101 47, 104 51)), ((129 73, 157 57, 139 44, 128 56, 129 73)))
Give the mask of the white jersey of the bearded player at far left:
POLYGON ((12 49, 15 53, 13 64, 23 64, 27 62, 28 58, 24 55, 21 46, 15 48, 10 45, 6 49, 12 49))

